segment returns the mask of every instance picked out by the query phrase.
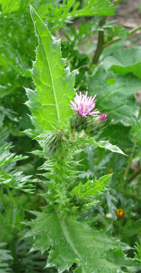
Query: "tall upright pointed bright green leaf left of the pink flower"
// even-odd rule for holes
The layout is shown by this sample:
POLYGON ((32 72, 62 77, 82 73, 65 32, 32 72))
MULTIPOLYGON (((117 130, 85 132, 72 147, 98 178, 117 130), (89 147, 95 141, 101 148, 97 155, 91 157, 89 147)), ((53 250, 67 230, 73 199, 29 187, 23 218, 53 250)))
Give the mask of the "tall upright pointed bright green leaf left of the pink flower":
POLYGON ((66 59, 61 57, 60 40, 52 38, 47 25, 32 6, 30 11, 39 43, 31 70, 36 89, 26 89, 29 99, 26 104, 38 119, 38 126, 51 130, 51 124, 56 125, 60 119, 71 115, 69 103, 75 94, 76 71, 70 73, 69 68, 65 68, 66 59))

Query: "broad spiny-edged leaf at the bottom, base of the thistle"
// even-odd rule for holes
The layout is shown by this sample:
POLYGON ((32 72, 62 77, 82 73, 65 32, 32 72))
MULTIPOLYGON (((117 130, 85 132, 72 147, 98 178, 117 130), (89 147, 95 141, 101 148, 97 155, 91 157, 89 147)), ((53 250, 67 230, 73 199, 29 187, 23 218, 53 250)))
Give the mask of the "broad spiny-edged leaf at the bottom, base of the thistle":
POLYGON ((78 264, 75 272, 79 273, 117 273, 121 266, 139 269, 138 263, 122 252, 130 247, 111 237, 111 226, 99 231, 86 221, 58 219, 55 213, 33 213, 37 217, 28 222, 31 230, 24 238, 34 239, 31 251, 44 252, 51 246, 46 267, 56 266, 59 273, 68 270, 73 262, 78 264))

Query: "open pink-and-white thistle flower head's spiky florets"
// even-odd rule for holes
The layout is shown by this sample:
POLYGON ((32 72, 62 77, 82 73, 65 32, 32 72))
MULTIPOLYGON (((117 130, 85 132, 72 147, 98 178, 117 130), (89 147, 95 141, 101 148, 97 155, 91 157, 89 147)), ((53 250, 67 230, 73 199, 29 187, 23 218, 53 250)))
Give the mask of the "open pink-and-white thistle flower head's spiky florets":
POLYGON ((100 114, 99 111, 96 111, 98 109, 95 109, 93 111, 93 109, 95 108, 95 97, 96 95, 93 97, 87 97, 88 91, 86 92, 86 95, 80 95, 77 94, 74 97, 74 102, 71 100, 71 104, 70 104, 70 108, 77 111, 79 115, 81 115, 82 117, 88 118, 88 116, 97 116, 98 114, 100 114), (91 112, 92 111, 92 112, 91 112))

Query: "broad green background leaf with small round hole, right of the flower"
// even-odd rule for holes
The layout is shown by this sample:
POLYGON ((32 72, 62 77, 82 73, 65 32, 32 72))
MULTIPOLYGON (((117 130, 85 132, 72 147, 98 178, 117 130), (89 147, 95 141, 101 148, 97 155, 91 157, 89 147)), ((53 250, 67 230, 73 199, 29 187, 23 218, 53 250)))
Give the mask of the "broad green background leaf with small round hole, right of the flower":
POLYGON ((140 90, 137 77, 131 73, 114 75, 100 64, 94 75, 87 75, 87 86, 90 95, 97 94, 96 107, 100 112, 107 112, 109 121, 113 124, 121 122, 125 126, 132 124, 131 117, 135 116, 137 109, 135 94, 140 90), (115 78, 114 84, 107 82, 110 77, 115 78))

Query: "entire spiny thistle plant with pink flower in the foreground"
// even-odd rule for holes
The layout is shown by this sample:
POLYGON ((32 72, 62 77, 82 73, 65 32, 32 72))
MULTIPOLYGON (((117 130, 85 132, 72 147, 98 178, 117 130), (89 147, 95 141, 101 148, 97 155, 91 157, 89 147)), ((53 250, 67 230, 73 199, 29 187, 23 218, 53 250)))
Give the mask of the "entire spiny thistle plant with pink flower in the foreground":
MULTIPOLYGON (((96 95, 88 96, 88 92, 83 92, 83 94, 80 92, 79 95, 77 92, 75 93, 76 71, 70 73, 69 68, 65 68, 66 59, 61 57, 60 41, 55 41, 51 37, 47 26, 41 21, 32 6, 30 9, 39 44, 36 48, 36 61, 33 62, 33 69, 31 70, 36 89, 26 89, 29 99, 26 104, 31 110, 31 121, 35 130, 29 129, 26 130, 26 133, 38 140, 41 147, 41 150, 33 151, 33 154, 45 158, 40 169, 44 170, 42 175, 45 180, 43 183, 47 187, 43 194, 46 202, 43 207, 45 212, 36 213, 35 221, 28 222, 31 225, 31 233, 36 238, 30 251, 38 249, 40 236, 37 239, 36 234, 42 233, 43 236, 48 236, 46 245, 41 248, 42 253, 53 242, 46 267, 56 265, 58 271, 63 272, 65 269, 69 269, 73 261, 78 264, 79 272, 90 273, 95 271, 91 257, 89 258, 87 255, 87 264, 89 265, 86 267, 83 258, 80 258, 81 255, 76 254, 78 243, 75 242, 75 246, 71 250, 70 241, 73 239, 68 238, 72 236, 73 233, 69 234, 73 231, 70 226, 76 227, 78 222, 75 220, 78 216, 99 203, 98 198, 103 192, 107 191, 112 173, 104 174, 98 179, 93 177, 85 182, 81 181, 79 175, 83 174, 80 168, 83 162, 82 159, 79 160, 79 154, 89 145, 106 148, 122 155, 125 154, 116 145, 110 144, 108 140, 97 141, 95 139, 103 130, 108 114, 104 112, 100 115, 101 109, 95 109, 96 95), (34 100, 36 109, 32 107, 32 100, 34 100), (38 221, 46 223, 47 230, 45 232, 42 229, 37 230, 35 227, 38 221), (57 235, 52 241, 52 235, 49 234, 52 234, 54 228, 52 224, 48 226, 48 223, 56 225, 56 231, 57 229, 62 230, 61 237, 57 235), (66 250, 68 241, 69 249, 67 247, 68 250, 66 250), (65 252, 70 253, 73 258, 68 260, 63 257, 66 264, 63 263, 62 265, 62 258, 61 261, 57 258, 60 254, 56 254, 56 250, 57 247, 62 249, 63 245, 65 252)), ((115 244, 119 245, 118 242, 115 244)), ((122 243, 120 246, 122 247, 122 243)), ((64 255, 64 252, 62 253, 64 255)), ((103 262, 101 265, 100 263, 99 261, 98 266, 103 268, 103 262)), ((125 263, 123 262, 123 264, 125 263)), ((110 270, 110 264, 107 265, 106 270, 110 270)))

